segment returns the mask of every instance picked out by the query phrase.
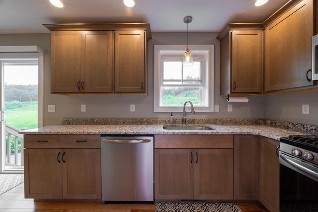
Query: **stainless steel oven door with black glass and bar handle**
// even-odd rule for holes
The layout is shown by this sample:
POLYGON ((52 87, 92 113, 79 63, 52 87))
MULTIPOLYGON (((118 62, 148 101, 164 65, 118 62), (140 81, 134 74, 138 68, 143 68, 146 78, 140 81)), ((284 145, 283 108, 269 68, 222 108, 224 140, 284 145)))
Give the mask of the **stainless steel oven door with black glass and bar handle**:
POLYGON ((280 211, 318 212, 318 168, 281 151, 279 162, 280 211))

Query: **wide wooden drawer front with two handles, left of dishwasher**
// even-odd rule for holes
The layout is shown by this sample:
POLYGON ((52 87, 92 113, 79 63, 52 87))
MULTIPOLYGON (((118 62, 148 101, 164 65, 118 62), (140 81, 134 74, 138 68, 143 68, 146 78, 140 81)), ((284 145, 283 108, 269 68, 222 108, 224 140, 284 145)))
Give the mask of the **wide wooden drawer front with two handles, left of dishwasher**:
POLYGON ((100 148, 100 135, 24 135, 25 148, 100 148))

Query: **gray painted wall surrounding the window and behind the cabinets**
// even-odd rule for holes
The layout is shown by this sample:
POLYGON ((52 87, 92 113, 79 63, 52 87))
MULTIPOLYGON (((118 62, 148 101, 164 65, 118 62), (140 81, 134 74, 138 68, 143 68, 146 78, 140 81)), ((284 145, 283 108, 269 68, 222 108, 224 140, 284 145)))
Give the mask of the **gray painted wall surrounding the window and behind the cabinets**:
MULTIPOLYGON (((248 103, 231 103, 233 112, 227 112, 226 97, 219 96, 220 93, 220 43, 216 39, 217 33, 190 33, 190 44, 214 44, 215 45, 215 97, 214 103, 220 105, 218 113, 196 113, 188 115, 188 118, 196 119, 239 119, 239 118, 271 118, 279 120, 290 120, 288 114, 296 114, 299 108, 290 108, 286 101, 291 101, 293 96, 253 96, 248 103), (266 108, 265 108, 266 105, 266 108), (282 114, 281 111, 288 114, 282 114)), ((148 96, 65 96, 50 93, 50 34, 0 34, 1 46, 12 45, 37 45, 45 50, 44 57, 44 125, 60 124, 63 118, 168 118, 169 113, 154 113, 154 45, 155 44, 186 44, 186 33, 152 33, 152 39, 148 44, 148 96), (47 112, 47 105, 56 105, 55 113, 47 112), (86 112, 80 112, 80 104, 86 104, 86 112), (130 112, 129 105, 136 105, 136 112, 130 112)), ((314 92, 295 94, 304 99, 310 95, 315 97, 317 111, 317 93, 314 92)), ((296 104, 296 103, 295 103, 296 104)), ((314 112, 310 104, 310 112, 314 112)), ((301 107, 301 106, 300 106, 301 107)), ((301 112, 301 109, 300 109, 301 112)), ((311 114, 312 115, 312 114, 311 114)), ((176 119, 180 119, 182 112, 174 113, 176 119)), ((294 121, 313 124, 314 118, 299 115, 294 121), (308 117, 308 118, 307 118, 308 117)))

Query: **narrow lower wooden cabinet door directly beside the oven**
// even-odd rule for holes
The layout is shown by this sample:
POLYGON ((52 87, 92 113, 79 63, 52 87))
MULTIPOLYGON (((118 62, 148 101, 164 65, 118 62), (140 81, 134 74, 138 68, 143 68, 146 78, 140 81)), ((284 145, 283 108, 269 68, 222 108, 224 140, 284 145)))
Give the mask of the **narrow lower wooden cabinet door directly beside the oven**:
POLYGON ((260 137, 259 201, 271 212, 279 212, 279 141, 260 137))

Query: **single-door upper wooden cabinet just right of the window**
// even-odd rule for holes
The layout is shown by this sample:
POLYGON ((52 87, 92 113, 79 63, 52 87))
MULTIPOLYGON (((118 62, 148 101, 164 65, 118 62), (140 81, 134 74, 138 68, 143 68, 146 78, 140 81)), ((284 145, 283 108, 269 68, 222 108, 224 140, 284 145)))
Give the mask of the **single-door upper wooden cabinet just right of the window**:
POLYGON ((263 32, 260 24, 229 24, 221 47, 220 95, 262 92, 263 32))

